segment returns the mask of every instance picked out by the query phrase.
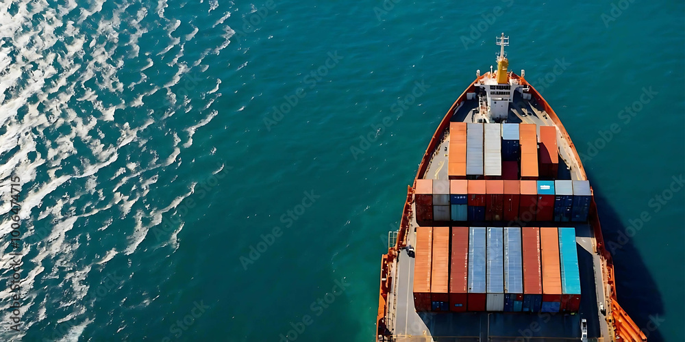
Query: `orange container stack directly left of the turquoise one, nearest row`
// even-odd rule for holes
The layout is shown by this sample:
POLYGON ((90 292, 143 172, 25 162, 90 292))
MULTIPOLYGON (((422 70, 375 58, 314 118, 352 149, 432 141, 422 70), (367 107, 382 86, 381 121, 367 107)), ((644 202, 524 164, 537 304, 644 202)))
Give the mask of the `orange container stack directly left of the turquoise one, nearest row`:
POLYGON ((558 313, 561 308, 561 266, 559 261, 559 235, 556 227, 540 228, 540 254, 543 259, 544 313, 558 313))

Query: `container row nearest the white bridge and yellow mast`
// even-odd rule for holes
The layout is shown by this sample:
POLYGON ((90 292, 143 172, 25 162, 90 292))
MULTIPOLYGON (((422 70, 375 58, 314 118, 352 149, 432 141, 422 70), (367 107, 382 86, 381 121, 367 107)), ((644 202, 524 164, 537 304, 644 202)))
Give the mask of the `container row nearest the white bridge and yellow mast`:
POLYGON ((449 179, 556 179, 557 131, 536 124, 450 122, 449 179))

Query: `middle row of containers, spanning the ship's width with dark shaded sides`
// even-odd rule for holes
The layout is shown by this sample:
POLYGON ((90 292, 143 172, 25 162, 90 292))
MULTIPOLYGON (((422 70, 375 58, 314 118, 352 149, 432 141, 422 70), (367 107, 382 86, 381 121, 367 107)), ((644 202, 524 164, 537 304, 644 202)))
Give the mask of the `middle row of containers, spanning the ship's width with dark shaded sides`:
MULTIPOLYGON (((416 222, 586 222, 589 181, 419 179, 416 222)), ((437 223, 437 224, 436 224, 437 223)))

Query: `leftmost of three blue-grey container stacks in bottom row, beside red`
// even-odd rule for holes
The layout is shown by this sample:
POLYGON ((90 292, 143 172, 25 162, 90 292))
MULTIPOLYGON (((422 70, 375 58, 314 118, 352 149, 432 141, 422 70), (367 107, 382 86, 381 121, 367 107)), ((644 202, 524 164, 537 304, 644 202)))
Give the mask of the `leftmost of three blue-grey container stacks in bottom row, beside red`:
MULTIPOLYGON (((469 311, 485 311, 486 308, 486 229, 469 228, 469 311)), ((416 277, 416 275, 414 275, 416 277)))

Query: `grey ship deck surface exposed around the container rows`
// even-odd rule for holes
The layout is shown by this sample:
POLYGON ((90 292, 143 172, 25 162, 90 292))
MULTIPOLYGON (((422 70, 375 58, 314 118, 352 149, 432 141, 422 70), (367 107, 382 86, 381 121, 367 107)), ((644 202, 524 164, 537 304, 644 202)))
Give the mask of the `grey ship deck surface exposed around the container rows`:
MULTIPOLYGON (((476 99, 463 101, 451 121, 474 122, 479 103, 476 99)), ((534 100, 528 101, 516 93, 507 122, 534 123, 553 126, 547 113, 534 100)), ((560 174, 558 179, 582 179, 582 170, 575 161, 571 142, 558 137, 560 174)), ((426 179, 447 179, 448 135, 436 148, 424 174, 426 179)), ((413 205, 412 205, 413 209, 413 205)), ((413 211, 415 212, 415 211, 413 211)), ((470 226, 507 226, 508 222, 469 222, 470 226)), ((406 250, 390 265, 390 276, 395 280, 388 293, 388 328, 395 341, 578 341, 581 339, 580 320, 587 320, 590 341, 610 340, 609 327, 599 303, 606 304, 602 259, 596 252, 593 229, 587 223, 534 222, 530 226, 573 226, 577 234, 578 263, 582 299, 579 313, 416 313, 413 282, 414 259, 406 250), (530 338, 530 340, 529 340, 530 338)), ((416 246, 416 220, 412 218, 407 241, 416 246)))

